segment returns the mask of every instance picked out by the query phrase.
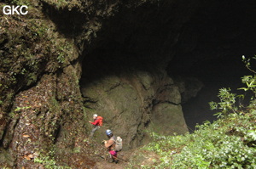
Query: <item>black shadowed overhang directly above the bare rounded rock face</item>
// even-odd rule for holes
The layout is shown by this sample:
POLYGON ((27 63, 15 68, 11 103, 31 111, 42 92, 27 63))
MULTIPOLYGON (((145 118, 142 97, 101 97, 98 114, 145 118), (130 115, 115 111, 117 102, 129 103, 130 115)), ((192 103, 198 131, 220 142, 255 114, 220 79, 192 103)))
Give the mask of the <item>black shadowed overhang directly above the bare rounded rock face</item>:
POLYGON ((104 21, 89 50, 84 51, 82 78, 90 83, 131 70, 165 69, 172 59, 178 32, 192 14, 192 10, 186 10, 191 3, 183 4, 160 1, 136 9, 120 8, 118 14, 104 21), (181 15, 185 10, 186 14, 181 15))

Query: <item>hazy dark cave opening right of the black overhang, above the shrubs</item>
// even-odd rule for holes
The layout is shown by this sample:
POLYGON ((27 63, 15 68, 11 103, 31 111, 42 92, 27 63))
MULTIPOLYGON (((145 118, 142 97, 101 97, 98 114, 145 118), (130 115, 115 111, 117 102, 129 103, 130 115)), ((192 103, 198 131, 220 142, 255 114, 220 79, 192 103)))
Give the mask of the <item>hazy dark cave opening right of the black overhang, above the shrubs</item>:
POLYGON ((168 72, 195 76, 204 83, 200 93, 183 104, 187 125, 213 121, 216 111, 208 102, 218 102, 218 89, 230 87, 232 93, 244 87, 241 76, 252 75, 241 56, 255 54, 255 1, 207 1, 192 20, 183 27, 176 57, 168 72))

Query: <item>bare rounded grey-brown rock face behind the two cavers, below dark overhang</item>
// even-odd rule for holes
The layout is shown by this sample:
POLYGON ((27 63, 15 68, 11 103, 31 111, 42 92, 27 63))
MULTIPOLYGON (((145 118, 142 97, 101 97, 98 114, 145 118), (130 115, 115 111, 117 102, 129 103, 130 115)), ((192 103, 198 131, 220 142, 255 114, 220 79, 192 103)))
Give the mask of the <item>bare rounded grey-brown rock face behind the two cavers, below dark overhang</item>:
POLYGON ((164 71, 105 76, 82 86, 81 91, 88 115, 104 118, 98 139, 109 128, 124 138, 125 149, 131 149, 143 144, 148 129, 162 134, 188 132, 178 87, 164 71))

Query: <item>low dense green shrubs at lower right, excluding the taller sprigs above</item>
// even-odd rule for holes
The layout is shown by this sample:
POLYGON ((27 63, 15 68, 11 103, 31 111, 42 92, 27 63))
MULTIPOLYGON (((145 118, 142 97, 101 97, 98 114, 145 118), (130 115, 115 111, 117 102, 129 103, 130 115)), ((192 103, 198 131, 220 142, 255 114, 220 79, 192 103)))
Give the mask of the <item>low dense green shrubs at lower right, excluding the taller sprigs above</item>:
POLYGON ((155 168, 255 168, 255 117, 256 110, 230 114, 183 136, 151 133, 154 142, 143 149, 160 155, 155 168))

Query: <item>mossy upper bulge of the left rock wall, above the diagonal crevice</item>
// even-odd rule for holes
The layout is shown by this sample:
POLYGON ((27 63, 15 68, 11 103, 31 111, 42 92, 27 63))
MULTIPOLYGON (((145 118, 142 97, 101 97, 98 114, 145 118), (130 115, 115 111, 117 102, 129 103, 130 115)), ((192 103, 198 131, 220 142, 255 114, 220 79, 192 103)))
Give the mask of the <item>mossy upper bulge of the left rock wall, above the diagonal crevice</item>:
POLYGON ((75 54, 73 42, 61 37, 55 31, 55 25, 43 18, 40 6, 33 6, 37 1, 6 2, 30 2, 30 6, 29 14, 4 15, 4 20, 1 20, 0 76, 3 81, 1 80, 0 100, 4 104, 4 111, 8 111, 13 101, 9 99, 8 94, 17 93, 24 87, 31 87, 44 71, 55 72, 67 66, 75 54))

